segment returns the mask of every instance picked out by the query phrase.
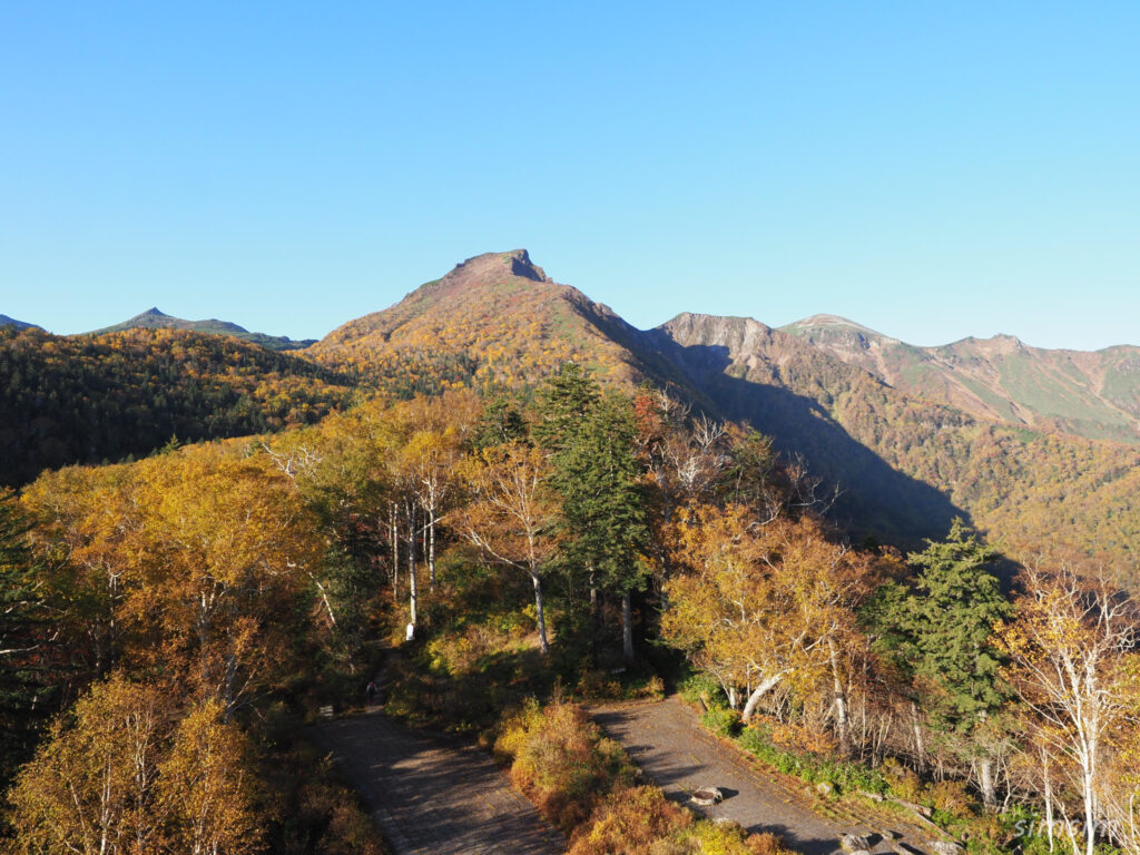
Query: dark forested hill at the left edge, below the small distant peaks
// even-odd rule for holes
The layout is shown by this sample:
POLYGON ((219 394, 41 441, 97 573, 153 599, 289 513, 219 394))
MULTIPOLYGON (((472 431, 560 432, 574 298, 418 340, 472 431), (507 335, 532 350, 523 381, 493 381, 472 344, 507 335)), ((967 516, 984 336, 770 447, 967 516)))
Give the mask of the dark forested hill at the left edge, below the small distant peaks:
POLYGON ((296 357, 174 329, 0 329, 0 484, 43 469, 316 422, 355 389, 296 357))

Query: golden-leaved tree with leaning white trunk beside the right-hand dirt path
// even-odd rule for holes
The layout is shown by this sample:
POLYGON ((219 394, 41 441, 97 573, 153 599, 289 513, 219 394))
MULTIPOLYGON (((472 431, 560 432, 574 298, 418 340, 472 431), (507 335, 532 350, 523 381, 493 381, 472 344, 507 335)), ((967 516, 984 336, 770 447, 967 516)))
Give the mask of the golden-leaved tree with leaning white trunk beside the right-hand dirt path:
POLYGON ((830 691, 846 740, 845 658, 863 644, 854 608, 874 581, 874 563, 830 542, 812 518, 760 526, 741 505, 697 508, 677 542, 685 571, 666 583, 665 637, 714 674, 733 706, 747 693, 746 723, 781 683, 801 694, 830 691))

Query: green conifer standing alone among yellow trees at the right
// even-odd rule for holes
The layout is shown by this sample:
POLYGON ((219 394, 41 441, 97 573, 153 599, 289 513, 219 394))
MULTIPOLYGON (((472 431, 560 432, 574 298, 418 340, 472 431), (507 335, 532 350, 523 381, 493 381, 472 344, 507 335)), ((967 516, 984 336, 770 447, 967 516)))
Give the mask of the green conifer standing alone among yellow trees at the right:
POLYGON ((994 627, 1011 613, 993 563, 1001 557, 961 519, 945 542, 907 556, 918 576, 888 583, 863 611, 877 652, 909 679, 936 727, 967 738, 987 807, 996 804, 993 762, 980 730, 1007 700, 994 627))

